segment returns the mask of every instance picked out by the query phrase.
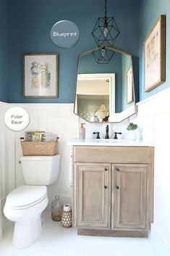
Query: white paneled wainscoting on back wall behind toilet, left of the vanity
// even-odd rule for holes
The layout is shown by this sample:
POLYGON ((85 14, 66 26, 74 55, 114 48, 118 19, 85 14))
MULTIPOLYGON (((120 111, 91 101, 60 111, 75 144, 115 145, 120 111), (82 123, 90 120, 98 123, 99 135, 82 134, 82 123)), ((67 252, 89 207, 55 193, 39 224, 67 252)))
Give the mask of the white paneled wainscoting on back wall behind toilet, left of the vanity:
MULTIPOLYGON (((59 136, 58 154, 61 154, 61 170, 59 180, 48 186, 49 204, 55 195, 59 194, 64 202, 71 202, 71 189, 69 188, 69 168, 71 149, 67 141, 78 136, 78 117, 73 114, 73 104, 9 104, 9 107, 23 107, 30 115, 30 124, 25 131, 48 131, 59 136)), ((8 173, 12 177, 9 191, 24 182, 19 163, 22 155, 20 137, 25 131, 7 131, 8 136, 8 173)))

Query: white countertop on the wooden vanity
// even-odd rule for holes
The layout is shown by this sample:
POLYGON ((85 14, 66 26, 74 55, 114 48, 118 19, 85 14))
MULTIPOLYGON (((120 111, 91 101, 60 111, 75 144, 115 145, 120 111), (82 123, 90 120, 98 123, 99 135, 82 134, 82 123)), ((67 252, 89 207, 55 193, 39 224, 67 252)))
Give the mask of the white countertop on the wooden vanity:
POLYGON ((72 139, 69 146, 154 146, 153 143, 126 139, 72 139))

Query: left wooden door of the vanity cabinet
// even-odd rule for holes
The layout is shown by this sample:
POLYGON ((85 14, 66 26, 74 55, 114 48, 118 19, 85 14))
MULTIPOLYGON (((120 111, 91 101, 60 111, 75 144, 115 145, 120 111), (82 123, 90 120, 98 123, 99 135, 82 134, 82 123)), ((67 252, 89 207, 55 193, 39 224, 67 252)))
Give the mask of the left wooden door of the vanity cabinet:
POLYGON ((75 164, 76 222, 86 228, 110 228, 111 165, 75 164))

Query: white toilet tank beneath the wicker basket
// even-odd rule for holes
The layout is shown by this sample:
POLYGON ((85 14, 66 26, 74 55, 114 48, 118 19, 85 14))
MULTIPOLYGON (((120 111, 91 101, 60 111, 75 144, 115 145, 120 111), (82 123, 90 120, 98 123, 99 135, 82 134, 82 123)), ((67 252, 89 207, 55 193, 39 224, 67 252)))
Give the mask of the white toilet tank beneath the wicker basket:
POLYGON ((51 185, 59 177, 61 155, 20 157, 27 185, 51 185))

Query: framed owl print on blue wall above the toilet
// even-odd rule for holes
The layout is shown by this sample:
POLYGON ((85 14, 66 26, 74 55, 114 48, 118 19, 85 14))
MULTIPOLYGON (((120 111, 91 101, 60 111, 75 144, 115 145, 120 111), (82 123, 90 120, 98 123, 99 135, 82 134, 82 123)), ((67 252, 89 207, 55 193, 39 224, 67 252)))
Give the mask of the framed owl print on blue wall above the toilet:
POLYGON ((24 55, 24 97, 58 97, 58 54, 24 55))

